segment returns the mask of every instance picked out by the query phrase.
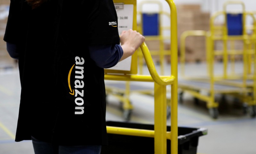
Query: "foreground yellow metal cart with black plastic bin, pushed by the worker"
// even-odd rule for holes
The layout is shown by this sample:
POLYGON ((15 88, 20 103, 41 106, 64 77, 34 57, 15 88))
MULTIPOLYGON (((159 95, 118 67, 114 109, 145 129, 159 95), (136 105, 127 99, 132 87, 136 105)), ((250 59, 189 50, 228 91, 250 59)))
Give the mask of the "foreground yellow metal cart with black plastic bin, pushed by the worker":
MULTIPOLYGON (((172 0, 166 0, 171 8, 171 75, 170 76, 159 76, 150 52, 145 43, 141 45, 142 53, 145 57, 145 62, 147 64, 150 75, 136 75, 136 74, 111 74, 106 73, 106 80, 118 80, 118 81, 137 81, 137 82, 153 82, 154 83, 154 125, 148 127, 148 125, 137 125, 136 127, 131 126, 131 123, 120 123, 120 122, 107 122, 107 133, 109 135, 110 144, 109 146, 103 147, 101 153, 126 153, 128 150, 133 149, 130 144, 121 144, 125 148, 120 148, 120 143, 126 141, 127 137, 134 136, 144 138, 146 140, 151 140, 152 144, 146 145, 146 150, 152 150, 145 153, 155 153, 155 154, 166 154, 167 151, 172 154, 178 154, 183 150, 194 150, 193 154, 196 154, 196 146, 198 138, 207 134, 207 129, 186 129, 185 133, 180 134, 178 138, 178 73, 177 73, 177 63, 178 63, 178 49, 177 49, 177 13, 176 6, 172 0), (171 85, 171 127, 167 127, 166 121, 166 86, 171 85), (139 127, 138 127, 139 126, 139 127), (114 136, 113 136, 114 135, 114 136), (119 136, 116 142, 112 142, 115 136, 119 136), (121 137, 120 137, 121 136, 121 137), (122 139, 122 141, 120 140, 122 139), (195 142, 190 144, 190 138, 194 138, 195 142), (170 142, 171 141, 171 142, 170 142), (179 143, 178 143, 179 142, 179 143), (111 144, 113 143, 113 144, 111 144), (188 143, 185 148, 183 146, 178 146, 178 144, 188 143), (195 146, 196 145, 196 146, 195 146), (148 147, 150 146, 150 148, 148 147), (152 149, 153 147, 153 149, 152 149), (191 147, 191 148, 190 148, 191 147), (128 149, 128 150, 127 150, 128 149)), ((117 0, 116 3, 122 3, 123 1, 117 0)), ((129 4, 132 3, 136 6, 136 1, 126 1, 129 4)), ((126 3, 124 3, 126 4, 126 3)), ((132 139, 133 143, 138 140, 132 139)), ((144 148, 144 147, 143 147, 144 148)), ((132 153, 138 153, 141 149, 135 149, 132 153)), ((191 152, 190 152, 191 153, 191 152)), ((184 153, 185 154, 185 153, 184 153)))

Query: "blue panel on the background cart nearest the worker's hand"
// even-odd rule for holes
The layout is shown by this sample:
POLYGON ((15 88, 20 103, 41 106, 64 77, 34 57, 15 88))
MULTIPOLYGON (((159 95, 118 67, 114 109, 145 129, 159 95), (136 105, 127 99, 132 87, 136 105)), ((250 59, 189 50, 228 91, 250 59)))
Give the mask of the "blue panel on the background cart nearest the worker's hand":
POLYGON ((158 13, 143 13, 143 35, 159 35, 158 13))

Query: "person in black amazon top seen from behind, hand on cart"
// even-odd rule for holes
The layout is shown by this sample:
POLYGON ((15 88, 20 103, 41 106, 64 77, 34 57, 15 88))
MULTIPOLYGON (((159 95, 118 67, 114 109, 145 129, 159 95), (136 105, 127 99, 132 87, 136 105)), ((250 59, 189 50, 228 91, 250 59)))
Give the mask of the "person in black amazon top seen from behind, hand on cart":
POLYGON ((36 154, 107 145, 104 68, 145 40, 133 30, 119 37, 117 24, 112 0, 11 0, 4 40, 21 79, 15 141, 32 138, 36 154))

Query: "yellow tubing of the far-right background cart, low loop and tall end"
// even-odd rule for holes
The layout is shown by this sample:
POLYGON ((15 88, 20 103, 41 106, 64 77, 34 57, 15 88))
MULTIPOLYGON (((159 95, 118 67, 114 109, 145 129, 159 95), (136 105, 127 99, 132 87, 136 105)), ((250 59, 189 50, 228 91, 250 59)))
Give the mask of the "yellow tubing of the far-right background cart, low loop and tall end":
MULTIPOLYGON (((256 13, 256 12, 255 12, 256 13)), ((255 52, 255 41, 256 41, 256 33, 255 33, 255 30, 256 30, 256 19, 254 17, 254 14, 253 12, 245 12, 245 6, 244 6, 244 3, 241 2, 241 1, 228 1, 224 4, 224 11, 218 11, 216 13, 214 13, 211 18, 210 18, 210 32, 205 32, 205 31, 200 31, 200 30, 192 30, 192 31, 185 31, 184 33, 181 34, 181 40, 180 40, 180 51, 181 51, 181 57, 180 57, 180 62, 181 62, 181 76, 182 78, 184 79, 193 79, 192 77, 186 77, 185 76, 185 39, 187 36, 190 36, 190 35, 193 35, 193 36, 206 36, 207 38, 207 41, 206 41, 206 52, 207 52, 207 68, 208 68, 208 74, 209 74, 209 82, 210 82, 210 96, 209 97, 204 97, 204 96, 201 96, 199 93, 197 92, 194 92, 194 91, 190 91, 190 93, 196 97, 198 97, 199 99, 202 99, 202 100, 205 100, 205 101, 209 101, 209 102, 212 102, 212 103, 209 103, 208 105, 208 108, 209 107, 213 107, 213 106, 217 106, 218 104, 214 102, 214 82, 215 81, 218 81, 219 83, 222 83, 222 84, 227 84, 229 85, 229 83, 226 81, 226 80, 223 80, 222 79, 243 79, 243 83, 242 84, 237 84, 237 83, 231 83, 230 85, 236 85, 236 86, 239 86, 239 87, 248 87, 247 84, 246 84, 246 80, 249 78, 249 79, 253 79, 253 82, 254 82, 254 86, 252 86, 252 91, 253 91, 253 96, 250 97, 250 96, 244 96, 244 99, 246 99, 246 102, 248 102, 248 105, 255 105, 256 104, 256 64, 255 64, 255 57, 256 57, 256 52, 255 52), (220 15, 224 15, 225 16, 225 19, 227 18, 226 17, 226 8, 227 8, 227 5, 228 4, 241 4, 242 7, 243 7, 243 35, 239 35, 239 36, 228 36, 227 35, 227 22, 225 22, 224 26, 214 26, 214 20, 220 16, 220 15), (253 19, 253 26, 251 27, 246 27, 245 26, 245 16, 251 16, 252 19, 253 19), (217 33, 216 30, 218 32, 221 32, 221 33, 217 33), (252 35, 248 35, 246 33, 247 30, 252 30, 253 33, 252 35), (214 44, 214 41, 215 40, 223 40, 223 44, 224 44, 224 49, 223 51, 217 51, 217 50, 214 50, 214 47, 213 47, 213 44, 214 44), (243 50, 235 50, 234 47, 232 48, 232 50, 229 50, 229 52, 227 51, 227 41, 230 40, 243 40, 244 41, 244 49, 243 50), (254 45, 254 46, 253 46, 254 45), (249 47, 251 46, 251 48, 249 47), (247 48, 246 48, 247 47, 247 48), (243 72, 243 75, 235 75, 234 74, 234 66, 232 66, 232 75, 227 75, 227 62, 228 62, 228 59, 227 59, 227 56, 228 55, 243 55, 244 57, 244 72, 243 72), (213 72, 214 72, 214 69, 213 69, 213 65, 214 65, 214 56, 215 55, 223 55, 224 56, 224 69, 223 69, 223 75, 221 76, 214 76, 213 72), (251 57, 253 56, 253 61, 250 59, 251 57), (251 73, 251 63, 254 62, 254 72, 252 74, 252 76, 248 76, 248 74, 251 73), (222 81, 222 82, 220 82, 222 81), (252 100, 251 100, 252 99, 252 100)), ((227 19, 226 19, 227 20, 227 19)), ((226 21, 225 20, 225 21, 226 21)), ((232 60, 232 59, 231 59, 232 60)), ((234 60, 232 61, 234 62, 234 60)), ((204 79, 205 77, 195 77, 195 79, 204 79)), ((206 81, 207 78, 206 78, 206 81)))

